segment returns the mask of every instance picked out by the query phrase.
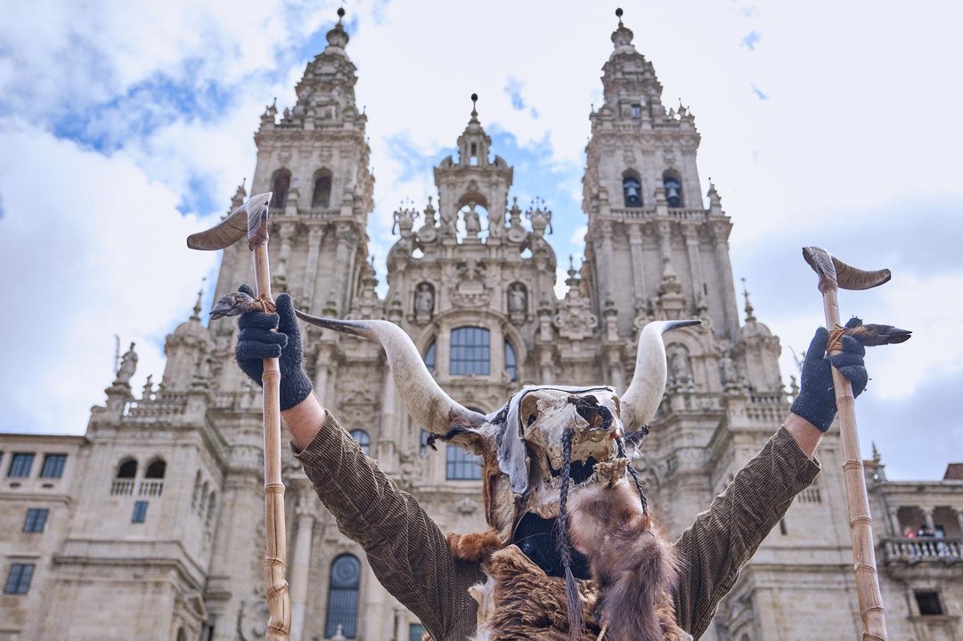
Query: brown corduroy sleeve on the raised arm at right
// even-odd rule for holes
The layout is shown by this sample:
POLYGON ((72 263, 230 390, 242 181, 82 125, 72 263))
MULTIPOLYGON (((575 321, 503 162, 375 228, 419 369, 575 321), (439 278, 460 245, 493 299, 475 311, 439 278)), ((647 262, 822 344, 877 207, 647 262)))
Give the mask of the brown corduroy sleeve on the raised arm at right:
POLYGON ((686 564, 674 595, 682 628, 696 639, 705 632, 742 565, 819 472, 819 463, 803 454, 780 427, 709 510, 695 517, 675 543, 686 564))

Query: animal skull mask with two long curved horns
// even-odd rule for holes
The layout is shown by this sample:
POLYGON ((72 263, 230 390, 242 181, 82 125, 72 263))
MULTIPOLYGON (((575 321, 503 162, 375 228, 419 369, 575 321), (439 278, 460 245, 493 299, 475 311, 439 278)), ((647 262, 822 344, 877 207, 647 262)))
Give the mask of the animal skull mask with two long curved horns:
POLYGON ((529 386, 483 416, 438 386, 398 325, 297 314, 303 321, 381 344, 403 403, 431 434, 429 442, 440 438, 481 456, 485 518, 503 544, 511 542, 526 514, 548 520, 559 516, 563 478, 571 479, 574 493, 613 485, 625 476, 629 461, 622 437, 652 420, 664 394, 662 334, 699 323, 648 323, 639 333, 636 372, 621 397, 604 386, 529 386))

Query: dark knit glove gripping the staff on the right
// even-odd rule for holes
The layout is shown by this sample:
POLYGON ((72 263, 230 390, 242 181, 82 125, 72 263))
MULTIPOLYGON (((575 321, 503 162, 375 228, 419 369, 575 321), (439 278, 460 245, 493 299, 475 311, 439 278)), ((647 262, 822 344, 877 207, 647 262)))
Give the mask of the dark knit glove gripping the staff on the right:
MULTIPOLYGON (((846 326, 849 326, 848 322, 846 326)), ((799 394, 790 408, 793 414, 813 423, 821 432, 828 430, 836 418, 836 392, 830 365, 849 379, 853 397, 858 397, 866 389, 869 380, 863 364, 866 348, 851 336, 844 336, 842 343, 843 351, 827 358, 829 332, 825 327, 816 330, 802 363, 799 394)))

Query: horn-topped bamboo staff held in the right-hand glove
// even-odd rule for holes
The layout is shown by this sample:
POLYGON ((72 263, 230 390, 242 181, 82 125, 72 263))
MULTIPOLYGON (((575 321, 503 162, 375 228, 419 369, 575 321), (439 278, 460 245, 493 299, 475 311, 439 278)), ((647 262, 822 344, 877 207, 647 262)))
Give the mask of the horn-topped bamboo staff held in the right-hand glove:
MULTIPOLYGON (((803 247, 802 257, 820 276, 822 307, 826 315, 826 329, 830 331, 827 350, 830 354, 837 354, 841 351, 839 332, 834 332, 841 327, 837 300, 839 288, 868 290, 889 281, 890 270, 863 271, 849 267, 822 247, 803 247)), ((886 618, 883 612, 883 597, 879 591, 879 576, 876 574, 870 500, 866 492, 863 457, 859 452, 859 434, 856 431, 855 398, 846 377, 836 368, 832 368, 832 372, 833 389, 836 391, 836 416, 839 418, 840 436, 843 440, 849 535, 855 561, 853 568, 856 572, 856 596, 859 599, 859 614, 863 619, 863 641, 886 641, 886 618)))

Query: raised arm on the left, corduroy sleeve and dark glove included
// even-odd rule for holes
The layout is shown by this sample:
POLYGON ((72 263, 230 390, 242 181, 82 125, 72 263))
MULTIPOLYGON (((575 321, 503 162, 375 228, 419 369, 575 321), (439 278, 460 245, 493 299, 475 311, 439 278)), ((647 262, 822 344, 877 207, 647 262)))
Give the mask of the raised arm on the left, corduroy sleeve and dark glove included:
POLYGON ((446 638, 470 602, 468 587, 481 579, 478 567, 451 556, 418 501, 378 469, 311 392, 291 297, 277 297, 277 314, 249 312, 238 324, 238 363, 252 379, 260 380, 252 369, 265 353, 280 358, 281 416, 338 528, 365 550, 381 584, 432 636, 446 638))

